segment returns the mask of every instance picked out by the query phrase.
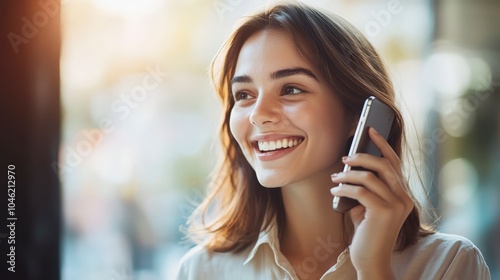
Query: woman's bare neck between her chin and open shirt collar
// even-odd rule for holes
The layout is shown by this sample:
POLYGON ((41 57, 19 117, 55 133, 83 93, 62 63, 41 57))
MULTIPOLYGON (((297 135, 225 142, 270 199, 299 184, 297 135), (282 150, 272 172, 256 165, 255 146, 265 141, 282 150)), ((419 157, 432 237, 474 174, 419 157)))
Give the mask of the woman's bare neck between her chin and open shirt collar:
POLYGON ((340 248, 342 215, 332 208, 333 185, 325 172, 282 187, 286 220, 280 247, 289 259, 300 263, 300 259, 307 257, 325 260, 328 257, 331 262, 344 249, 340 248))

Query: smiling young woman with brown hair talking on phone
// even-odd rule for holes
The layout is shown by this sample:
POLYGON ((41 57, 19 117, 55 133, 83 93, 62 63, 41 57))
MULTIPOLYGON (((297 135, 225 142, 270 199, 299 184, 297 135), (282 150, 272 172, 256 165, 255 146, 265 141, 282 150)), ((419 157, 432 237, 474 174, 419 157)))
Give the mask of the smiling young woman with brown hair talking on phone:
POLYGON ((276 5, 246 18, 212 70, 222 161, 188 221, 199 245, 178 279, 489 279, 470 241, 421 223, 391 81, 355 27, 276 5), (343 157, 369 96, 395 112, 387 141, 369 133, 383 158, 343 157), (330 192, 361 205, 337 213, 330 192))

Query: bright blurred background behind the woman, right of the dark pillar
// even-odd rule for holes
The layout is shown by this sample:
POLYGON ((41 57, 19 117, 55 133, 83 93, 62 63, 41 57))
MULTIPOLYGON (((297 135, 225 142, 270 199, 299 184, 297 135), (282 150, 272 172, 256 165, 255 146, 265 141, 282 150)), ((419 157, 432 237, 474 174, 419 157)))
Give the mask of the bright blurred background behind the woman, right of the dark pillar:
MULTIPOLYGON (((438 229, 472 240, 492 279, 499 279, 500 2, 303 2, 350 19, 379 50, 408 120, 415 169, 440 217, 438 229)), ((39 117, 54 116, 50 127, 56 127, 33 134, 52 140, 32 141, 51 151, 40 163, 47 173, 59 173, 59 185, 44 183, 57 186, 50 201, 60 202, 51 212, 60 220, 49 229, 61 229, 54 235, 60 255, 52 255, 60 260, 57 277, 173 279, 191 246, 179 227, 216 160, 221 112, 209 64, 239 18, 272 3, 66 0, 58 6, 42 0, 10 16, 22 26, 4 28, 19 37, 7 35, 1 55, 29 54, 24 63, 39 65, 20 83, 31 83, 31 108, 50 108, 39 117), (55 33, 43 33, 49 28, 55 33), (45 45, 51 34, 58 45, 45 45), (58 65, 44 68, 46 56, 33 55, 30 46, 60 55, 58 65), (47 86, 47 73, 59 74, 60 87, 36 94, 47 86)), ((43 224, 44 217, 33 222, 43 224)))

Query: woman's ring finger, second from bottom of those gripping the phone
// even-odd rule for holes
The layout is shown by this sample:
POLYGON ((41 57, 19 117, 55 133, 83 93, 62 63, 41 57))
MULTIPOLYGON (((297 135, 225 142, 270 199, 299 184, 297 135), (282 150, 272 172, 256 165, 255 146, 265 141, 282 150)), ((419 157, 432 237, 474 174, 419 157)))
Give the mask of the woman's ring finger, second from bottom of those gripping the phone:
POLYGON ((370 171, 351 170, 334 173, 332 175, 332 182, 337 184, 361 185, 385 201, 391 201, 395 198, 392 190, 370 171))

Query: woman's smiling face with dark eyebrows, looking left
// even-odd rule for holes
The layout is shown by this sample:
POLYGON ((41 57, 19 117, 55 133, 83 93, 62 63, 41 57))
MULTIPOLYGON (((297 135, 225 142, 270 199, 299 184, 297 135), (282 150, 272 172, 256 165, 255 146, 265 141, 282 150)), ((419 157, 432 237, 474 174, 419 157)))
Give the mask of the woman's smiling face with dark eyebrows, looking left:
POLYGON ((353 118, 285 32, 245 42, 232 94, 231 133, 263 186, 329 180, 342 168, 353 118))

